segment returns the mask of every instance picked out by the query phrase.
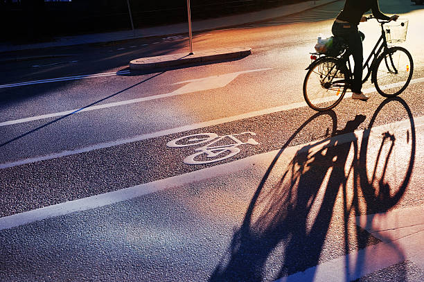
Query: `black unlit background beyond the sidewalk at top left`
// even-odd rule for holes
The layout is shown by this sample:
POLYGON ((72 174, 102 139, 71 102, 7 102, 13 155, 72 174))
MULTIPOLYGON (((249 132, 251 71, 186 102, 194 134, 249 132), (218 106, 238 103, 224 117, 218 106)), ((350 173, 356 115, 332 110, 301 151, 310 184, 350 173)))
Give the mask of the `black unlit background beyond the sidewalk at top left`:
MULTIPOLYGON (((191 11, 196 21, 304 1, 310 0, 191 0, 191 11)), ((186 21, 186 1, 0 0, 0 24, 8 26, 3 39, 15 42, 43 42, 58 35, 130 30, 132 25, 143 28, 186 21)))

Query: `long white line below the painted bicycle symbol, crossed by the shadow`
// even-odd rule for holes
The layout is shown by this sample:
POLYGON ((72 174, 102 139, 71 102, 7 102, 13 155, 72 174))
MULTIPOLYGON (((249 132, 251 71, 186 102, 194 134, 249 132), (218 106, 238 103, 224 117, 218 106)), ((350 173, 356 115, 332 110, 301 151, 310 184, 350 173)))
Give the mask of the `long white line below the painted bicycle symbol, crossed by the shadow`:
MULTIPOLYGON (((424 116, 414 119, 416 128, 424 125, 424 116)), ((410 126, 410 121, 398 121, 396 123, 389 123, 387 125, 380 125, 378 127, 371 128, 369 135, 378 136, 380 138, 382 132, 387 132, 388 130, 398 130, 402 128, 407 128, 410 126)), ((177 175, 174 177, 169 177, 166 179, 160 179, 154 182, 149 182, 145 184, 139 184, 129 188, 123 188, 121 190, 112 191, 103 193, 100 195, 95 195, 91 197, 85 197, 78 200, 73 200, 69 202, 64 202, 61 204, 54 204, 52 206, 46 206, 44 208, 35 209, 32 211, 26 211, 23 213, 16 213, 14 215, 8 215, 6 217, 0 218, 0 230, 10 229, 12 227, 18 227, 20 225, 28 224, 38 220, 44 220, 46 218, 53 218, 60 215, 67 215, 75 211, 86 211, 88 209, 94 209, 100 206, 106 206, 108 204, 114 204, 117 202, 122 202, 125 200, 131 200, 135 197, 140 197, 142 195, 147 195, 150 193, 155 193, 158 191, 163 191, 165 189, 170 189, 178 186, 183 186, 185 184, 190 184, 193 182, 201 182, 206 179, 213 177, 218 177, 220 175, 227 175, 229 173, 237 173, 238 171, 251 167, 254 164, 269 164, 274 157, 279 154, 280 159, 292 159, 297 152, 303 152, 303 150, 309 150, 310 146, 314 144, 319 144, 320 148, 326 148, 326 146, 333 146, 335 141, 338 144, 348 143, 351 141, 361 140, 364 135, 364 130, 356 130, 352 133, 337 135, 332 138, 327 138, 318 141, 312 141, 305 144, 299 144, 297 146, 292 146, 285 148, 285 150, 280 153, 280 150, 274 150, 271 152, 266 152, 259 155, 254 155, 247 157, 245 159, 239 159, 232 161, 227 164, 221 164, 218 166, 213 166, 211 168, 203 168, 200 170, 195 170, 191 173, 184 173, 182 175, 177 175), (310 145, 310 146, 308 146, 310 145)), ((266 166, 265 166, 266 167, 266 166)), ((321 265, 319 265, 320 267, 321 265)), ((290 277, 290 276, 289 276, 290 277)), ((292 280, 281 280, 281 281, 292 281, 292 280)), ((297 280, 294 280, 297 281, 297 280)), ((332 281, 343 281, 343 280, 332 280, 332 281)))

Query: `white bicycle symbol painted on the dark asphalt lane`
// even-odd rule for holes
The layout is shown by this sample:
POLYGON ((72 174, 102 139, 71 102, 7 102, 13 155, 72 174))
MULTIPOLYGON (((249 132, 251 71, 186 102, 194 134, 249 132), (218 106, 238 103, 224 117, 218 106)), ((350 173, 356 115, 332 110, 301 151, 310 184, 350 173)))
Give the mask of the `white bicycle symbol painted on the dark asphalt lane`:
MULTIPOLYGON (((248 138, 246 142, 240 141, 237 137, 255 136, 254 132, 242 132, 239 134, 229 134, 218 136, 215 133, 200 133, 179 137, 166 143, 168 147, 187 147, 206 143, 206 145, 196 148, 195 153, 186 157, 184 164, 210 164, 215 161, 222 161, 237 155, 240 152, 240 145, 258 145, 254 139, 248 138)), ((246 137, 245 137, 246 139, 246 137)))

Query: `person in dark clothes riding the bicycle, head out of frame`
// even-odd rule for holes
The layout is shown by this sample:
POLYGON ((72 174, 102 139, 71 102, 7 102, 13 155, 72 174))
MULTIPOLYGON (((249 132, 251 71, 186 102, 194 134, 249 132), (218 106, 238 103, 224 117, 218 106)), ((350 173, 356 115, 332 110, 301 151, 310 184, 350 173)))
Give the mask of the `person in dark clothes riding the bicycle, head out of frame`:
POLYGON ((342 37, 344 42, 348 44, 349 50, 353 55, 355 67, 353 69, 353 83, 351 85, 352 98, 360 100, 368 100, 369 96, 362 93, 362 63, 364 55, 362 53, 362 40, 364 33, 361 33, 357 26, 360 22, 366 21, 363 17, 364 12, 371 9, 373 16, 377 19, 387 21, 396 21, 398 15, 387 17, 378 7, 378 0, 346 0, 343 10, 339 13, 334 21, 331 31, 334 36, 342 37))

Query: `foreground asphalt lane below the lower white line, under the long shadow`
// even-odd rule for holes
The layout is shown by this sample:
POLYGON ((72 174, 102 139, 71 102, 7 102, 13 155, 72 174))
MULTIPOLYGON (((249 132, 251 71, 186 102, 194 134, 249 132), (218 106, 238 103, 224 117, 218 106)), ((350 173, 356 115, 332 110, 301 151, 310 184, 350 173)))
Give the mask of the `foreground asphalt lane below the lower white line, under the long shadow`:
POLYGON ((307 138, 312 123, 326 133, 326 118, 336 116, 315 115, 280 150, 135 186, 129 196, 92 197, 86 211, 88 205, 71 206, 77 213, 58 206, 65 215, 3 229, 1 280, 272 281, 289 275, 291 281, 308 270, 308 281, 315 274, 342 281, 349 272, 364 276, 391 265, 396 277, 422 274, 396 243, 383 263, 346 259, 347 250, 353 254, 389 240, 358 229, 355 215, 424 204, 418 166, 424 155, 417 150, 424 143, 423 117, 380 124, 400 107, 409 108, 400 99, 386 101, 369 121, 357 115, 340 122, 337 136, 295 141, 307 138), (373 130, 358 130, 362 123, 373 130), (92 209, 97 200, 107 205, 92 209), (399 265, 405 261, 406 267, 399 265))

